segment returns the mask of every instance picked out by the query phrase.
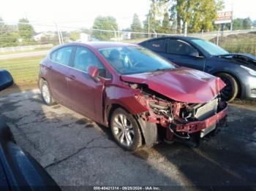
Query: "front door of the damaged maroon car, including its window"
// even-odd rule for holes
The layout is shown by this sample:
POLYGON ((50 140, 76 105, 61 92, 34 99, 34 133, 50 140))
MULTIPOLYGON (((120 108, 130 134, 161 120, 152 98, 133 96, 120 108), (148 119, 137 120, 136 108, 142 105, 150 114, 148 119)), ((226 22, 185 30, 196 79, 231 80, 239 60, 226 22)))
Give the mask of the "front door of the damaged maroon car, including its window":
POLYGON ((88 73, 89 66, 104 66, 87 47, 76 47, 72 69, 68 73, 68 89, 73 109, 94 120, 102 120, 102 92, 104 83, 95 81, 88 73))

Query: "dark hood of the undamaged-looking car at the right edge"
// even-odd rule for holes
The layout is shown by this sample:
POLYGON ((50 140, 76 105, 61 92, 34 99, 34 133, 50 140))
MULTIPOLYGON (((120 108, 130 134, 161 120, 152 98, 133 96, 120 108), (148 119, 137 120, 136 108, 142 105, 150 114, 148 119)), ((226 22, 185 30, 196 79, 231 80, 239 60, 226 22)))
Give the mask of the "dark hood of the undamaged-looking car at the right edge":
POLYGON ((246 53, 232 53, 227 55, 218 55, 219 58, 226 58, 235 61, 240 65, 256 70, 256 57, 246 53))

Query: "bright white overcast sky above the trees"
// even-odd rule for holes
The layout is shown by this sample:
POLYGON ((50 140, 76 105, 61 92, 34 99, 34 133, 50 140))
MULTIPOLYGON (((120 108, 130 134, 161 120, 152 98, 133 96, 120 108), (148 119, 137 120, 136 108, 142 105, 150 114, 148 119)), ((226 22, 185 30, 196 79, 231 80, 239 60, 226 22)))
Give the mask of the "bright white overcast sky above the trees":
MULTIPOLYGON (((224 0, 225 10, 233 7, 233 17, 251 17, 256 20, 256 0, 224 0)), ((150 0, 1 0, 0 17, 5 22, 18 22, 20 17, 28 17, 31 23, 38 23, 36 31, 50 30, 59 26, 72 28, 91 28, 98 15, 116 17, 120 28, 127 28, 132 23, 132 16, 137 13, 140 20, 145 20, 150 0), (45 25, 50 25, 45 26, 45 25)))

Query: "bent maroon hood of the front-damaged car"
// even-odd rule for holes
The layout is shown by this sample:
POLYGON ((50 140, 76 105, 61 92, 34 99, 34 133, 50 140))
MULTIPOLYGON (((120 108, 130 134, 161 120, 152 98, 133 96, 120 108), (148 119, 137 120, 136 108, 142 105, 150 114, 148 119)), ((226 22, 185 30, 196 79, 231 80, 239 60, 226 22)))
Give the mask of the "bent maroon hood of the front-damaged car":
POLYGON ((225 83, 218 77, 180 67, 168 71, 121 75, 125 82, 146 84, 148 88, 175 101, 205 103, 219 94, 225 83))

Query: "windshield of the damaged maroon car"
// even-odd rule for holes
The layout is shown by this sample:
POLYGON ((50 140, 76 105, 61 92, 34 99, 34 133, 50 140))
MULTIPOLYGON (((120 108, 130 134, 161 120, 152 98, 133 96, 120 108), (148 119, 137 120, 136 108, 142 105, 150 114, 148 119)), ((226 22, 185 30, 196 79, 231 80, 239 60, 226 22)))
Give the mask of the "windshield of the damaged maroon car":
POLYGON ((113 47, 99 52, 120 74, 174 69, 176 66, 143 47, 113 47))

